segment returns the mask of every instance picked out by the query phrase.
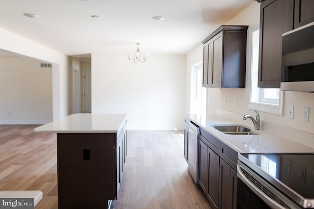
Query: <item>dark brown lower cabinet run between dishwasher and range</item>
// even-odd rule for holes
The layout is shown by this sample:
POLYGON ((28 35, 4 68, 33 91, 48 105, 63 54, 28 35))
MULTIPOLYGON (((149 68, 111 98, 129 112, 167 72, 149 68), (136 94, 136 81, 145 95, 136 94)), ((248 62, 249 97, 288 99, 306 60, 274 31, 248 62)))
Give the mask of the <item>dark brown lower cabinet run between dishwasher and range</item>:
POLYGON ((198 157, 198 183, 212 208, 236 209, 237 152, 201 128, 198 157))

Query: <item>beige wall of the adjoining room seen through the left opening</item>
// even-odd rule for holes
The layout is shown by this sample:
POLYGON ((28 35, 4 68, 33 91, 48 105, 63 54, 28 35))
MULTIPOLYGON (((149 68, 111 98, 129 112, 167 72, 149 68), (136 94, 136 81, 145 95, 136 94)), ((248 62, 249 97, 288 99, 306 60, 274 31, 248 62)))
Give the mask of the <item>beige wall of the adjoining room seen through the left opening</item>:
POLYGON ((0 57, 0 75, 0 124, 52 121, 52 68, 40 68, 35 59, 5 56, 0 57))

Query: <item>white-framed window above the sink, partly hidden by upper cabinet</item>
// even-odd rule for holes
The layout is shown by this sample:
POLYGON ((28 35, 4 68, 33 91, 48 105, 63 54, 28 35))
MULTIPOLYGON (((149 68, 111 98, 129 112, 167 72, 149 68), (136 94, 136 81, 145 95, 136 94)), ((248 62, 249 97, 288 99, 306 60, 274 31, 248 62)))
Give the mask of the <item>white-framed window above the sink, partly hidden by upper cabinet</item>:
POLYGON ((263 112, 282 115, 283 111, 283 92, 279 88, 259 88, 259 40, 260 29, 250 30, 251 41, 251 75, 250 91, 248 95, 248 106, 254 107, 263 112))

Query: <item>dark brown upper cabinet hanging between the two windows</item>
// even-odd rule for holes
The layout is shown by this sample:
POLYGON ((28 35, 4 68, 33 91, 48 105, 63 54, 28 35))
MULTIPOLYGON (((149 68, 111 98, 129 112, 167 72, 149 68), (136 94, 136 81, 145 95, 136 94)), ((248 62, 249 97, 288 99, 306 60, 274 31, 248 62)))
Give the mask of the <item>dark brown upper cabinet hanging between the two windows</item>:
POLYGON ((248 26, 220 26, 202 43, 203 87, 245 88, 248 26))

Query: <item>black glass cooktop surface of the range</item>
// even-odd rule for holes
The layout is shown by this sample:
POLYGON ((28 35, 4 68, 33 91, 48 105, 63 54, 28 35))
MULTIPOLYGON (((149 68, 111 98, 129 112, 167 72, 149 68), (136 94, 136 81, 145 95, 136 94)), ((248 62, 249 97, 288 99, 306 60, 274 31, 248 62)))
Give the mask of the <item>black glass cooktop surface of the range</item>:
MULTIPOLYGON (((314 198, 314 154, 240 154, 264 172, 306 199, 314 198)), ((245 163, 245 162, 244 162, 245 163)), ((248 165, 249 166, 249 165, 248 165)), ((254 167, 254 166, 252 166, 254 167)), ((278 181, 273 181, 277 183, 278 181)))

